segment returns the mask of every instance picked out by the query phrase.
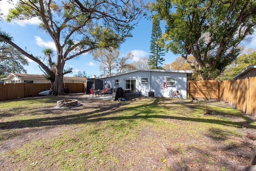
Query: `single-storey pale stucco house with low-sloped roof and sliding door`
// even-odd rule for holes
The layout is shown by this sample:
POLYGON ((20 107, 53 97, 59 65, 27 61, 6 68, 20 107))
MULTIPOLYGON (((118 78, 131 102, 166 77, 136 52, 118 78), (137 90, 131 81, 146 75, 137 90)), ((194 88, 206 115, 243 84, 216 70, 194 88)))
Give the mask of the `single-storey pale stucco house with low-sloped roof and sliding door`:
POLYGON ((98 78, 103 81, 103 88, 122 89, 130 91, 141 91, 144 96, 149 96, 149 92, 154 92, 155 97, 174 97, 178 91, 180 98, 186 98, 187 78, 191 77, 190 70, 133 70, 102 76, 98 78), (165 90, 162 89, 163 83, 167 83, 165 90))

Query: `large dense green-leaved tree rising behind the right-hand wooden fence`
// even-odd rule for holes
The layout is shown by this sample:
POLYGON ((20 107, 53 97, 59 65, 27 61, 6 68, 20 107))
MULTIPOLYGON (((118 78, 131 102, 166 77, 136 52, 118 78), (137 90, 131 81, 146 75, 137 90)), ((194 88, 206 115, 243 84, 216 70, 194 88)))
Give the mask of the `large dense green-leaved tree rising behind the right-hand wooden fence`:
POLYGON ((220 75, 256 26, 255 0, 156 0, 152 10, 164 20, 167 50, 192 54, 202 80, 220 75))

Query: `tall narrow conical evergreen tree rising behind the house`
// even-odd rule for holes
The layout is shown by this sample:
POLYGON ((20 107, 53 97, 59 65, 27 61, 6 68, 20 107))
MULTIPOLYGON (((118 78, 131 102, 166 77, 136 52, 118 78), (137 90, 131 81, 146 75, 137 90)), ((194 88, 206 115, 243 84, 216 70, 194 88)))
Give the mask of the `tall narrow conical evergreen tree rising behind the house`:
POLYGON ((161 38, 162 30, 160 28, 160 20, 157 18, 152 19, 152 33, 150 40, 150 55, 148 60, 148 65, 150 69, 162 69, 160 64, 165 60, 163 57, 165 55, 164 41, 161 38))

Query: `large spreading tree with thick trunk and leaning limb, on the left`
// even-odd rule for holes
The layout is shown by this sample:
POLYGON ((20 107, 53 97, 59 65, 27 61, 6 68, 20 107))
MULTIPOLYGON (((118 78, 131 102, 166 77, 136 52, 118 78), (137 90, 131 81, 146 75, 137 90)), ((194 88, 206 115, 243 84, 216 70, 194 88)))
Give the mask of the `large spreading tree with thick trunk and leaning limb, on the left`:
MULTIPOLYGON (((37 62, 51 81, 49 95, 61 95, 64 64, 97 48, 117 48, 142 16, 142 0, 19 0, 9 11, 8 21, 38 17, 40 28, 54 41, 56 60, 48 54, 48 64, 14 44, 6 32, 0 40, 7 42, 22 54, 37 62)), ((28 47, 29 50, 29 47, 28 47)))

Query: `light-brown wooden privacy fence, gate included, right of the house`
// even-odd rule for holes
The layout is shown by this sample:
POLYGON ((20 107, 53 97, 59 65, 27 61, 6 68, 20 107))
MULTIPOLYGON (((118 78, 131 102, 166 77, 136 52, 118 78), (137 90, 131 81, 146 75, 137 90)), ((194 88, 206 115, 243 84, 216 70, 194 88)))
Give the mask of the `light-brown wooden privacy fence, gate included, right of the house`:
POLYGON ((256 116, 256 77, 226 81, 188 81, 188 95, 192 98, 226 101, 252 116, 256 116))

